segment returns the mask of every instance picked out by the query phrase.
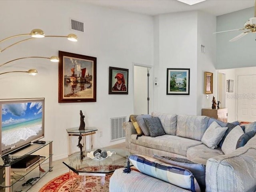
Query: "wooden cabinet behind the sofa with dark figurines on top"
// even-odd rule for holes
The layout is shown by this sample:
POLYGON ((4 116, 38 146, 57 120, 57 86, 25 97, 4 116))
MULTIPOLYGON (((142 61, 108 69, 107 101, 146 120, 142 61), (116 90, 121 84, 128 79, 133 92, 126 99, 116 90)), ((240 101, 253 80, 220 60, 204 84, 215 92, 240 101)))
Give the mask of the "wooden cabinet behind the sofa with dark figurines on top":
POLYGON ((202 115, 216 118, 223 122, 228 122, 228 108, 219 108, 219 109, 202 109, 202 115))

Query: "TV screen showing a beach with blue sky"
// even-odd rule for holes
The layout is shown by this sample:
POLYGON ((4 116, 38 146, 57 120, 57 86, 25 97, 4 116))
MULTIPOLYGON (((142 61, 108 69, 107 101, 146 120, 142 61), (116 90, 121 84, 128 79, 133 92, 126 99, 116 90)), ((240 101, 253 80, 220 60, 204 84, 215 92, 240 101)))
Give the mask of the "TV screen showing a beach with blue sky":
POLYGON ((42 136, 43 102, 2 105, 2 152, 42 136))

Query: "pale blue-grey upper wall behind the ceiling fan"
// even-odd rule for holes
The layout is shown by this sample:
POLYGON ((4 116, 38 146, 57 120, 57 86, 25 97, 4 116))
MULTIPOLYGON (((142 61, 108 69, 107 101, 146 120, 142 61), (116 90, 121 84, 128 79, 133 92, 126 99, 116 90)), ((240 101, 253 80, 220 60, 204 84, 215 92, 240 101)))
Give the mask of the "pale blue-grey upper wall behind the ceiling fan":
MULTIPOLYGON (((217 31, 240 29, 249 18, 254 17, 254 8, 217 16, 217 31)), ((255 33, 249 33, 237 41, 229 42, 243 31, 224 32, 217 36, 216 69, 256 66, 255 33)))

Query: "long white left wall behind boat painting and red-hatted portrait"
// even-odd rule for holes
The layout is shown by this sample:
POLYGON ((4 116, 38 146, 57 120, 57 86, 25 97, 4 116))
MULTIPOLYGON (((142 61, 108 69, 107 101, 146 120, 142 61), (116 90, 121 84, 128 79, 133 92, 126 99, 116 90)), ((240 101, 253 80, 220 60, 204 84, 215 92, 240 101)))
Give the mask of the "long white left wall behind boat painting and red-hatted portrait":
MULTIPOLYGON (((121 142, 110 143, 110 118, 133 113, 133 88, 129 87, 128 95, 109 95, 108 68, 129 69, 129 85, 132 85, 132 62, 153 65, 153 18, 78 1, 1 1, 0 18, 0 39, 29 33, 34 28, 44 30, 46 35, 76 33, 79 38, 78 42, 64 38, 30 40, 0 53, 0 64, 24 56, 58 55, 58 50, 97 58, 97 102, 58 103, 58 64, 47 60, 20 60, 0 68, 0 72, 38 70, 34 77, 1 75, 0 98, 45 98, 45 140, 54 141, 54 159, 67 155, 66 128, 80 125, 80 110, 86 126, 98 128, 95 147, 121 142), (83 21, 85 32, 71 31, 70 18, 83 21), (99 137, 99 131, 103 137, 99 137)), ((7 42, 0 46, 7 46, 7 42)), ((74 138, 74 146, 77 139, 74 138)))

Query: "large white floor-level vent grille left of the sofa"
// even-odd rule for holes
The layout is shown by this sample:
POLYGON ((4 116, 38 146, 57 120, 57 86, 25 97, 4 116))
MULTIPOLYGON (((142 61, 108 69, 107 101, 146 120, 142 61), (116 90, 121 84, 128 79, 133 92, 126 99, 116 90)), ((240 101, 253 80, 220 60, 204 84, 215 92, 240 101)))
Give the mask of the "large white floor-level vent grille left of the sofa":
POLYGON ((126 122, 126 117, 110 118, 111 140, 116 141, 125 138, 125 131, 122 128, 123 123, 126 122))

